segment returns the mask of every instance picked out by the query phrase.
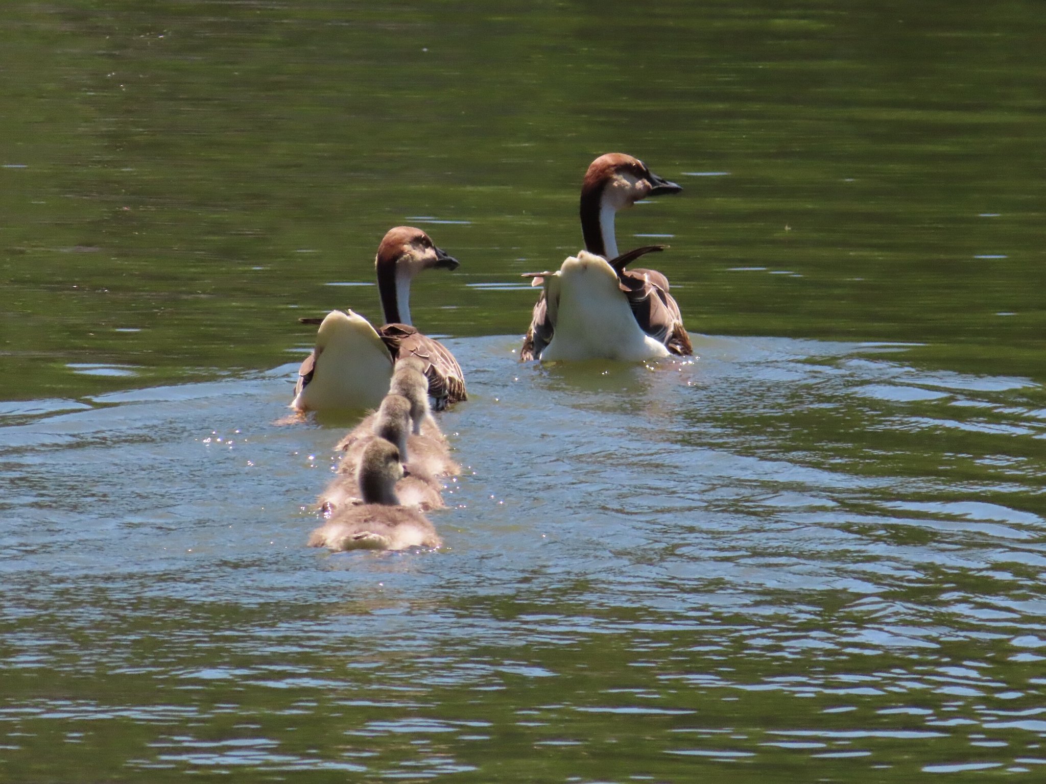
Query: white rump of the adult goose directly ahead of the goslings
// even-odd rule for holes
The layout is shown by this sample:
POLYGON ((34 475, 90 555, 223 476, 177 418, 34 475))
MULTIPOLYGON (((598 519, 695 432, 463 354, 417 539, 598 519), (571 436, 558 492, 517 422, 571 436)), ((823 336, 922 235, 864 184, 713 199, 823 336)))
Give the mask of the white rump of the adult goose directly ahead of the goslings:
POLYGON ((299 411, 372 409, 392 378, 392 354, 366 319, 332 310, 316 336, 312 379, 291 406, 299 411))

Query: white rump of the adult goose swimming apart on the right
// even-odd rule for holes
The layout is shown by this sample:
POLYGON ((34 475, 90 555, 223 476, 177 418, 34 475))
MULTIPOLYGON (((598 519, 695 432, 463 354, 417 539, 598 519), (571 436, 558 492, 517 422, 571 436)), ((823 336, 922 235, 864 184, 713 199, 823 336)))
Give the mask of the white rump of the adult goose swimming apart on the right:
POLYGON ((601 256, 582 251, 568 257, 545 278, 545 290, 555 332, 542 361, 667 356, 664 344, 639 327, 617 274, 601 256))

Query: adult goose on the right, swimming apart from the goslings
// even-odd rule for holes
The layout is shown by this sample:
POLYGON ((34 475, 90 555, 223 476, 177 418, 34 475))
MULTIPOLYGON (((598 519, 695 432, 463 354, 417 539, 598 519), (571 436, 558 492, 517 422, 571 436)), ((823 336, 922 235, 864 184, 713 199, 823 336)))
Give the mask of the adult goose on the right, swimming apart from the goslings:
MULTIPOLYGON (((679 185, 655 175, 645 163, 630 155, 608 153, 592 161, 582 184, 581 222, 585 251, 564 261, 558 273, 531 276, 535 277, 536 285, 544 282, 546 286, 535 304, 530 328, 527 329, 520 350, 521 361, 596 356, 635 360, 669 353, 685 356, 693 352, 679 305, 668 293, 667 278, 655 270, 626 269, 635 256, 630 258, 629 254, 618 255, 614 233, 614 216, 618 210, 631 207, 647 197, 677 193, 682 188, 679 185), (591 260, 593 256, 615 261, 602 269, 591 260), (600 273, 594 277, 577 274, 590 268, 598 268, 600 273), (607 269, 614 272, 616 290, 620 292, 618 295, 612 296, 611 290, 606 285, 592 290, 588 286, 589 280, 600 280, 604 284, 609 282, 610 279, 604 274, 607 269), (561 299, 556 307, 550 307, 548 300, 550 275, 560 277, 553 287, 561 296, 566 296, 566 300, 561 299), (635 324, 650 341, 630 339, 622 347, 614 344, 611 336, 620 339, 622 335, 632 335, 634 330, 627 323, 613 321, 601 308, 610 306, 612 313, 620 314, 620 308, 612 303, 622 297, 635 324), (602 318, 591 320, 584 316, 585 313, 601 314, 602 318), (560 340, 555 341, 556 330, 562 331, 568 325, 570 331, 561 335, 560 340), (608 325, 612 328, 606 332, 608 325), (605 330, 602 337, 599 330, 605 330), (556 346, 550 353, 549 347, 553 341, 556 346)), ((643 253, 652 249, 655 248, 643 250, 643 253)))

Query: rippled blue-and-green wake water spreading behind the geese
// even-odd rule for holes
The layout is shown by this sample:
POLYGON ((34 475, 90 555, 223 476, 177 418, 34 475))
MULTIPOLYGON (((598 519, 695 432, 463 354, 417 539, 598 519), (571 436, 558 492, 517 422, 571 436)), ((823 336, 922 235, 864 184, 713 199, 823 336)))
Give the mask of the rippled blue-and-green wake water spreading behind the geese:
POLYGON ((437 553, 304 547, 342 431, 274 423, 292 365, 5 407, 7 775, 1041 770, 1041 388, 695 345, 451 341, 469 468, 437 553))

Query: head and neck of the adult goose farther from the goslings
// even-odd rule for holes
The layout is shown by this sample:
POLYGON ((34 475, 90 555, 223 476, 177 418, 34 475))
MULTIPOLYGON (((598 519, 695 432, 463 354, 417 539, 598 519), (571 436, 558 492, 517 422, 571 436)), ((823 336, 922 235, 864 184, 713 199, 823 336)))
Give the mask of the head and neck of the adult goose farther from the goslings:
POLYGON ((678 193, 683 188, 655 175, 638 158, 608 153, 596 158, 582 183, 581 218, 585 248, 606 258, 617 255, 614 215, 647 197, 678 193))

